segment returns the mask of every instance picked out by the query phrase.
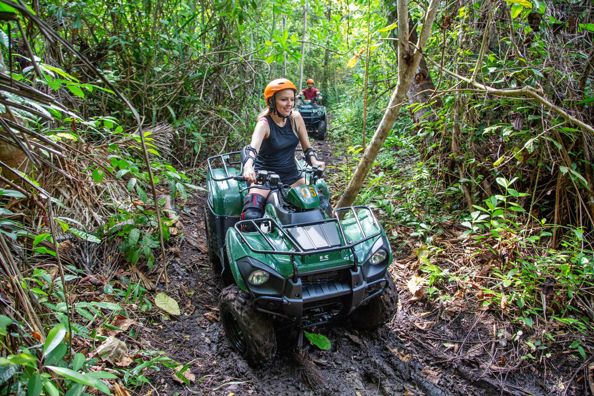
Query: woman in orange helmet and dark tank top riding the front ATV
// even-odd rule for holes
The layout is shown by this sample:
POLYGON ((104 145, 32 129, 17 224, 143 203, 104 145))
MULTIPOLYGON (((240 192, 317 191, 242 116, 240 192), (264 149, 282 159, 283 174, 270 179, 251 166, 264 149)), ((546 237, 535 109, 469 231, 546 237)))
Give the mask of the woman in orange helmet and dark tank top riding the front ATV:
MULTIPOLYGON (((305 123, 301 114, 293 113, 295 106, 295 84, 286 78, 273 80, 264 90, 267 108, 258 115, 251 142, 242 150, 244 179, 253 186, 256 172, 266 170, 275 172, 285 185, 291 187, 305 185, 305 178, 297 169, 295 148, 301 142, 305 162, 310 166, 324 167, 318 161, 314 148, 309 143, 305 123)), ((270 191, 251 188, 244 198, 241 220, 253 220, 264 215, 266 197, 270 191)), ((320 207, 330 213, 330 202, 320 195, 320 207)))

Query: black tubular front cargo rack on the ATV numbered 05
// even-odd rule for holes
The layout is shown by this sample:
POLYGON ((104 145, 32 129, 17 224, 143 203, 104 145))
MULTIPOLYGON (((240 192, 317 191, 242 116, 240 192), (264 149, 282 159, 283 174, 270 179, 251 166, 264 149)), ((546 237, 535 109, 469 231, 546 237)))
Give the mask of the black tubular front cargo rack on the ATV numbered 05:
POLYGON ((293 278, 295 279, 295 281, 296 281, 296 278, 298 277, 295 256, 311 256, 314 254, 323 254, 323 253, 328 253, 328 252, 337 252, 337 251, 343 251, 343 250, 350 249, 353 252, 353 256, 354 256, 354 260, 355 260, 354 267, 357 267, 358 266, 358 258, 355 253, 355 249, 354 249, 355 246, 359 245, 359 243, 365 242, 366 240, 373 239, 373 238, 381 235, 381 227, 380 227, 380 224, 378 223, 377 218, 375 217, 375 214, 371 211, 371 209, 369 209, 366 206, 362 206, 362 205, 337 208, 336 209, 336 217, 326 218, 325 220, 310 221, 309 223, 289 224, 286 226, 281 226, 273 218, 257 218, 254 220, 238 221, 237 223, 235 223, 235 226, 233 226, 233 227, 237 231, 242 242, 244 242, 245 245, 247 245, 249 250, 251 250, 252 252, 264 254, 264 255, 275 254, 275 255, 291 256, 291 259, 293 262, 293 278), (340 246, 336 246, 336 247, 323 248, 323 249, 304 249, 301 246, 301 244, 299 244, 299 242, 292 235, 290 235, 290 233, 288 233, 286 231, 286 229, 295 228, 295 227, 308 227, 308 226, 315 226, 318 224, 336 223, 337 226, 339 227, 340 236, 342 236, 343 242, 347 242, 348 239, 345 236, 345 230, 343 229, 342 223, 340 222, 340 216, 341 216, 341 214, 346 214, 349 211, 353 214, 353 217, 355 217, 355 221, 359 228, 359 232, 362 235, 362 238, 359 240, 355 240, 350 243, 347 243, 346 245, 340 245, 340 246), (371 220, 373 221, 373 225, 374 225, 375 229, 378 230, 376 233, 374 233, 372 235, 366 235, 365 230, 363 229, 363 226, 361 224, 361 220, 359 220, 359 216, 357 216, 357 214, 360 211, 367 211, 369 213, 369 215, 371 215, 371 220), (264 233, 260 229, 261 224, 264 224, 264 225, 267 225, 268 227, 270 227, 270 232, 272 232, 274 229, 277 229, 279 231, 279 233, 283 237, 285 237, 285 240, 289 241, 289 243, 291 245, 289 251, 278 251, 278 250, 274 249, 273 242, 266 235, 266 233, 264 233), (245 226, 249 225, 249 226, 254 227, 255 230, 258 233, 260 233, 260 236, 262 236, 263 239, 266 240, 266 243, 268 243, 268 246, 270 246, 270 250, 262 250, 262 249, 254 248, 254 246, 252 246, 251 243, 249 243, 249 240, 245 237, 244 232, 241 231, 242 225, 245 225, 245 226))

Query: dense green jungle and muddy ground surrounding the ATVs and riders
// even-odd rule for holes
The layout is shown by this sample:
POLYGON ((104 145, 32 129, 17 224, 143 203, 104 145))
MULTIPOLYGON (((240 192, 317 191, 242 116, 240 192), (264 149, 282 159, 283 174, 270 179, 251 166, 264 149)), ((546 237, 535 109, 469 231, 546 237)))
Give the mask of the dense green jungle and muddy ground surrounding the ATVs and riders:
POLYGON ((0 0, 0 394, 594 395, 594 2, 0 0), (418 65, 418 67, 417 67, 418 65), (252 369, 206 160, 313 78, 399 312, 252 369))

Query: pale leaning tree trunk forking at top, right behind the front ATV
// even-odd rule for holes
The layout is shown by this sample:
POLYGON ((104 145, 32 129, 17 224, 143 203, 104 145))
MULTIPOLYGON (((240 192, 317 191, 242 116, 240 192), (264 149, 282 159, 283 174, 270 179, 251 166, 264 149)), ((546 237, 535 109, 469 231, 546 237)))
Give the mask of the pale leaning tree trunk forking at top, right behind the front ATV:
POLYGON ((355 170, 353 178, 350 180, 345 193, 336 204, 337 208, 346 207, 353 204, 357 194, 359 194, 359 190, 363 185, 367 173, 371 169, 371 166, 373 165, 380 148, 383 146, 384 141, 386 141, 386 138, 388 137, 388 134, 394 125, 396 116, 398 115, 400 107, 402 106, 403 99, 410 88, 410 84, 412 84, 416 70, 419 67, 419 63, 421 62, 422 51, 425 49, 427 39, 431 33, 431 27, 433 25, 433 21, 435 20, 435 14, 437 14, 438 5, 439 0, 431 0, 431 2, 429 2, 429 7, 427 8, 427 12, 425 14, 425 22, 421 30, 421 36, 419 37, 418 43, 416 45, 418 49, 416 49, 411 56, 408 50, 408 4, 407 0, 398 0, 397 9, 399 12, 400 24, 398 37, 399 44, 402 44, 402 46, 399 45, 398 53, 398 84, 396 85, 396 89, 390 98, 390 103, 388 104, 386 113, 384 113, 380 125, 376 129, 371 142, 369 142, 369 145, 365 149, 363 157, 361 158, 361 161, 355 170), (406 22, 403 23, 402 21, 406 22), (406 29, 402 28, 403 26, 406 27, 406 29))

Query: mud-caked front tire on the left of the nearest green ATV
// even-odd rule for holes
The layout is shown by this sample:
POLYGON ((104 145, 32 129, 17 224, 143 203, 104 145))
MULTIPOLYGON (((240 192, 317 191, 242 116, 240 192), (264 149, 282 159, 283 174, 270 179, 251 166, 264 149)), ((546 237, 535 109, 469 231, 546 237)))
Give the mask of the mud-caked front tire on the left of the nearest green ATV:
POLYGON ((233 349, 252 367, 266 366, 276 355, 274 326, 266 314, 254 307, 252 297, 238 286, 225 287, 219 312, 233 349))

